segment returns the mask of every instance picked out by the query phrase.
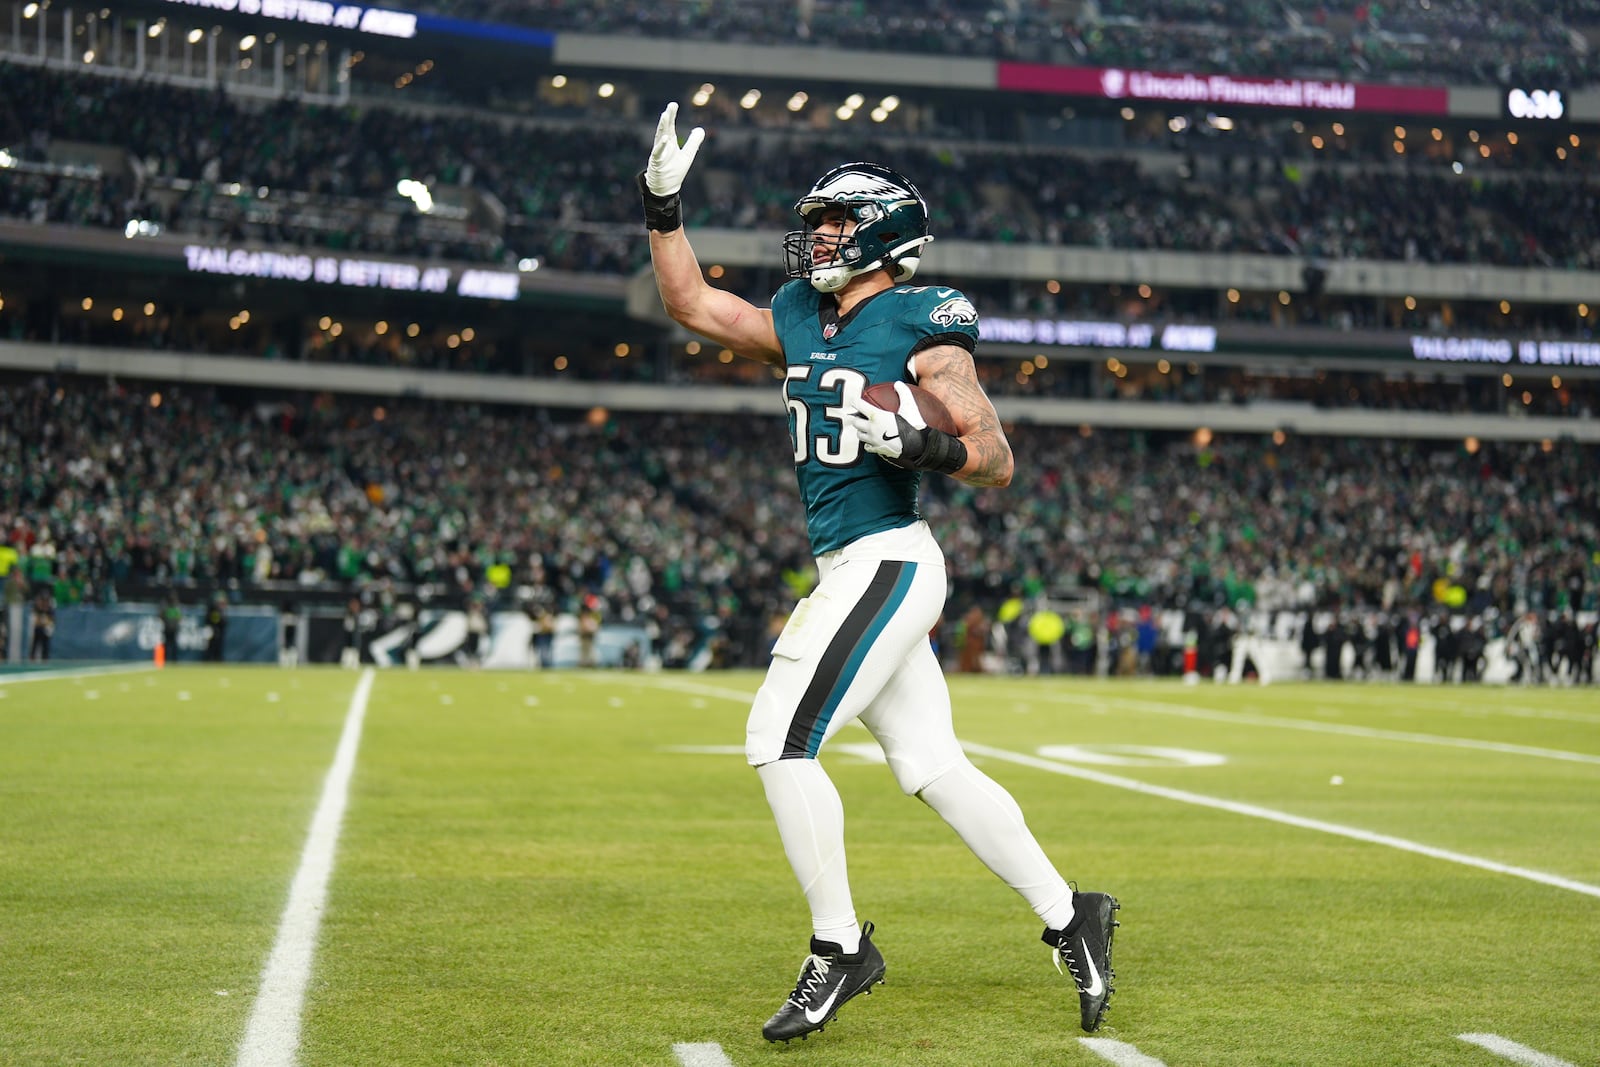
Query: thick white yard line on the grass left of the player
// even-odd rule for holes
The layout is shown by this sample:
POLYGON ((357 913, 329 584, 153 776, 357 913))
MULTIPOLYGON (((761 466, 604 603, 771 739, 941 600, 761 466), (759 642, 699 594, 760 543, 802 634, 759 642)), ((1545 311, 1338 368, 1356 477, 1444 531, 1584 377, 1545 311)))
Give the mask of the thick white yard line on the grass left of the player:
POLYGON ((328 901, 328 877, 333 873, 333 851, 339 843, 339 824, 350 797, 350 774, 355 750, 362 744, 362 720, 366 697, 373 691, 373 669, 362 672, 344 717, 344 733, 334 752, 333 766, 322 784, 322 800, 310 817, 310 833, 299 869, 290 883, 290 901, 278 920, 278 937, 261 973, 261 989, 238 1043, 238 1067, 294 1067, 299 1049, 301 1008, 310 981, 310 960, 317 949, 317 929, 328 901))

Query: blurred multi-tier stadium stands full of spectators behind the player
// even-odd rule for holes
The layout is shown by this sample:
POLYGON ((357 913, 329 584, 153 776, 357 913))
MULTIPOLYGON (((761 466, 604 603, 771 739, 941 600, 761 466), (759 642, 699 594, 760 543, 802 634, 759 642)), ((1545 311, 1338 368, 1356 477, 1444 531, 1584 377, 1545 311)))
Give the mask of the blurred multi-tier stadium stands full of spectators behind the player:
POLYGON ((939 242, 982 266, 955 259, 938 280, 986 317, 1261 331, 1232 357, 979 352, 997 398, 1043 408, 1011 419, 1010 490, 926 483, 950 561, 939 637, 952 664, 981 633, 990 665, 998 654, 1010 669, 1168 672, 1184 641, 1222 662, 1235 635, 1283 630, 1282 616, 1294 640, 1344 635, 1357 662, 1400 672, 1408 632, 1506 638, 1530 614, 1541 662, 1562 659, 1560 645, 1563 677, 1579 677, 1584 648, 1592 664, 1600 451, 1578 427, 1600 406, 1600 360, 1419 365, 1395 339, 1594 347, 1600 286, 1579 283, 1592 294, 1581 301, 1541 293, 1600 277, 1600 126, 1134 107, 938 85, 938 72, 986 58, 1542 85, 1576 99, 1600 75, 1600 0, 408 8, 611 56, 587 64, 213 26, 136 0, 67 22, 48 22, 62 18, 48 5, 0 6, 11 605, 221 593, 592 609, 643 627, 669 665, 763 662, 774 621, 811 581, 776 382, 634 299, 650 286, 634 174, 656 114, 678 99, 680 130, 710 134, 685 189, 688 224, 730 235, 718 250, 760 238, 770 254, 706 261, 757 302, 782 283, 778 235, 797 194, 842 160, 877 158, 918 182, 939 242), (746 90, 754 72, 638 61, 667 42, 774 64, 800 48, 826 69, 806 90, 774 78, 763 94, 746 90), (859 93, 838 74, 907 58, 931 85, 859 93), (437 206, 418 210, 405 182, 437 206), (515 274, 523 296, 150 266, 182 243, 515 274), (1141 285, 1093 266, 1056 278, 1021 267, 1040 250, 1067 264, 1208 256, 1230 275, 1277 264, 1270 277, 1293 280, 1141 285), (1008 261, 1014 272, 994 266, 1008 261), (1374 290, 1376 272, 1405 282, 1374 290), (178 366, 155 357, 192 362, 178 381, 150 370, 178 366), (224 363, 227 374, 203 370, 224 363), (443 395, 430 382, 446 371, 475 384, 424 398, 443 395), (496 381, 558 389, 512 395, 496 381), (643 392, 618 392, 629 389, 643 392), (722 389, 749 400, 706 400, 722 389), (1451 429, 1296 432, 1274 405, 1451 429), (1171 414, 1219 406, 1262 414, 1216 434, 1171 414), (1040 649, 1027 622, 1046 606, 1064 625, 1040 649))

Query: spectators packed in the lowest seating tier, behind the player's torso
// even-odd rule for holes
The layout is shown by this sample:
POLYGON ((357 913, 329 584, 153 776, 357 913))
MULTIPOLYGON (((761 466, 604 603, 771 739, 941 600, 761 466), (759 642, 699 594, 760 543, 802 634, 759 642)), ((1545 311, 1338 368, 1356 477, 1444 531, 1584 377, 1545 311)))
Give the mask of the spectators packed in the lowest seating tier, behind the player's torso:
MULTIPOLYGON (((504 606, 536 589, 754 664, 811 563, 787 450, 752 418, 34 379, 0 392, 0 544, 64 605, 174 584, 504 606)), ((1594 446, 1011 434, 1010 490, 925 485, 952 621, 1067 589, 1203 613, 1600 606, 1594 446)))

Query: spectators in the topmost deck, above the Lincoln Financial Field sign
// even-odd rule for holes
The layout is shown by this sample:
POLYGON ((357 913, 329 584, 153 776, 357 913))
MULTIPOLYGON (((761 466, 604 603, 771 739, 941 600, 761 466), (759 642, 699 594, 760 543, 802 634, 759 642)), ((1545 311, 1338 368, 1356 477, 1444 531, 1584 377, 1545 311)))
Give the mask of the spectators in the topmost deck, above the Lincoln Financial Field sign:
POLYGON ((1592 50, 1578 46, 1568 30, 1600 24, 1594 0, 1109 0, 1066 10, 1032 0, 432 0, 421 6, 608 35, 1381 82, 1554 77, 1574 86, 1592 82, 1597 66, 1592 50))

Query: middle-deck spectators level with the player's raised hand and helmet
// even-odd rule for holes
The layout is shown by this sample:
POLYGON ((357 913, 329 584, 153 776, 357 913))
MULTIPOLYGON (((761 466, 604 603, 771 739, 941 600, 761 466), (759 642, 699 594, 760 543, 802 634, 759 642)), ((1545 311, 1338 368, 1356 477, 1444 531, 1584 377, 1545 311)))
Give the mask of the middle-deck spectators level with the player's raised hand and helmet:
MULTIPOLYGON (((278 101, 0 66, 13 154, 56 141, 126 150, 131 174, 0 170, 0 214, 122 230, 130 219, 213 240, 618 274, 642 266, 632 174, 643 125, 507 126, 488 118, 278 101), (178 123, 176 128, 170 128, 178 123), (502 232, 424 229, 405 178, 467 186, 509 213, 502 232)), ((931 146, 870 138, 746 136, 707 152, 691 226, 782 230, 795 174, 893 158, 933 208, 934 232, 1045 243, 1338 261, 1600 269, 1600 182, 1565 173, 1454 174, 1446 162, 1290 165, 1275 147, 1237 165, 1168 173, 1136 154, 931 146), (1245 162, 1248 160, 1248 162, 1245 162), (1243 192, 1242 192, 1243 190, 1243 192)))

